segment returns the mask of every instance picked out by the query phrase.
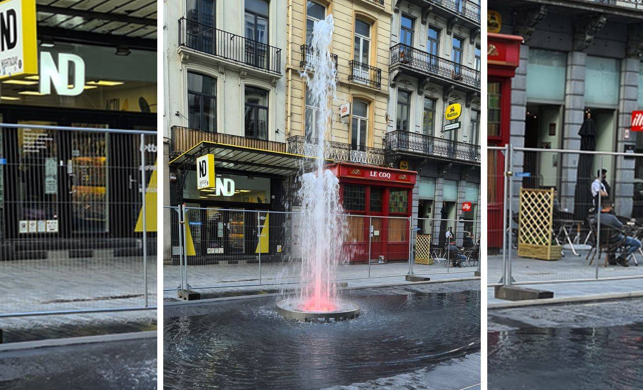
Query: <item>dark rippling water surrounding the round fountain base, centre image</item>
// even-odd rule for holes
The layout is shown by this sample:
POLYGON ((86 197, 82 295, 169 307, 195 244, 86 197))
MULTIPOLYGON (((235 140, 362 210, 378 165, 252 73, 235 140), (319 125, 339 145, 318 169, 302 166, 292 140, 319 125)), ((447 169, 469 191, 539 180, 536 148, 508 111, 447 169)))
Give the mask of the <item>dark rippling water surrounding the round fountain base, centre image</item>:
POLYGON ((371 288, 348 299, 361 315, 341 323, 284 320, 275 313, 275 297, 222 301, 167 317, 165 387, 349 385, 480 350, 478 289, 371 288))

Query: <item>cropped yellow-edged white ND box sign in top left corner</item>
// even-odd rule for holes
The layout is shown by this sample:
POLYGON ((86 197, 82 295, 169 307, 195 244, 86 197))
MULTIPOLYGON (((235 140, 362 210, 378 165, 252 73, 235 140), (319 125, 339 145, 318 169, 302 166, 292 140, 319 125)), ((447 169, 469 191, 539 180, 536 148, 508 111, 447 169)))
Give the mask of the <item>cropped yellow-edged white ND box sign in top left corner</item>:
POLYGON ((0 78, 38 73, 36 1, 0 1, 0 78))

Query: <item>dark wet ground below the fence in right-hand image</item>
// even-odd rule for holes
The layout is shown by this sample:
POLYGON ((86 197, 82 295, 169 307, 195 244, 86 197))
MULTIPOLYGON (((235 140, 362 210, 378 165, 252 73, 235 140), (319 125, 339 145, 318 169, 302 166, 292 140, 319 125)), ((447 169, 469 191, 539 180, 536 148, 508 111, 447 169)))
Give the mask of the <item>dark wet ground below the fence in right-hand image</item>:
POLYGON ((490 310, 489 389, 638 389, 643 299, 490 310))

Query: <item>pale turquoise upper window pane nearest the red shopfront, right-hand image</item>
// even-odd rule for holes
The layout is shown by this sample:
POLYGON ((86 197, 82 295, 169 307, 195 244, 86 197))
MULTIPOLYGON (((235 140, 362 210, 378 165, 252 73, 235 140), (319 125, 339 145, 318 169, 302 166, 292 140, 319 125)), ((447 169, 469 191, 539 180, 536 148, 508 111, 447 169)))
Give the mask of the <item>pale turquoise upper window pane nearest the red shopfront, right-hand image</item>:
POLYGON ((565 100, 566 64, 566 53, 562 51, 529 49, 527 99, 530 102, 565 100))

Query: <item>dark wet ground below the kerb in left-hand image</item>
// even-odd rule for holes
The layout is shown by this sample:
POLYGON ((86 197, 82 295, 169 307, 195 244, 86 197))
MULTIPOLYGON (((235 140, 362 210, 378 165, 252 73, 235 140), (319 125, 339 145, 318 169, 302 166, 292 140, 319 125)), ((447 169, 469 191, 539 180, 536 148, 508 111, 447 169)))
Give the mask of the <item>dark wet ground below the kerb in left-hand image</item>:
POLYGON ((1 389, 156 389, 156 338, 0 351, 1 389))

